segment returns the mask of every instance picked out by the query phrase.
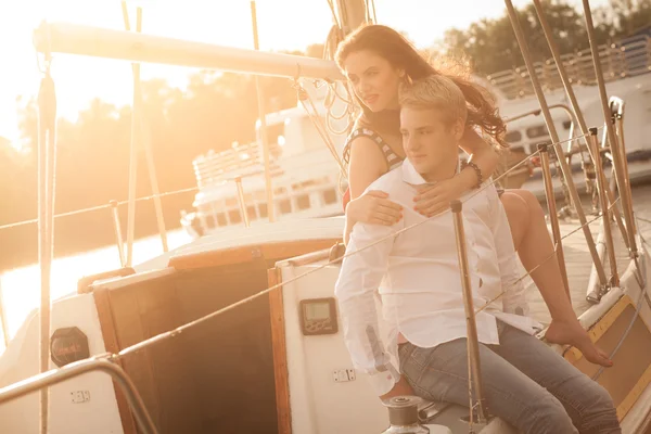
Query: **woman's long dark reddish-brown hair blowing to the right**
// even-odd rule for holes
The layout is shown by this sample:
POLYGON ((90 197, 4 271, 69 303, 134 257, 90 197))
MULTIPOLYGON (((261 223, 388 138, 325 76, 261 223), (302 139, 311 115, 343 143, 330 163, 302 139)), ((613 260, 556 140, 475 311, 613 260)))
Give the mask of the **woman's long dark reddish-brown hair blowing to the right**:
MULTIPOLYGON (((508 148, 503 140, 507 127, 499 116, 495 100, 482 86, 470 80, 470 72, 460 64, 447 62, 441 69, 435 68, 403 35, 391 27, 371 24, 362 26, 344 39, 337 47, 335 61, 344 71, 346 58, 354 52, 369 50, 386 59, 394 67, 405 69, 407 80, 418 80, 432 74, 449 77, 463 92, 468 102, 468 125, 477 126, 492 136, 499 146, 508 148)), ((386 114, 373 113, 357 100, 363 114, 362 123, 379 129, 386 128, 386 114)), ((394 120, 395 124, 396 120, 394 120)), ((391 122, 390 122, 391 124, 391 122)))

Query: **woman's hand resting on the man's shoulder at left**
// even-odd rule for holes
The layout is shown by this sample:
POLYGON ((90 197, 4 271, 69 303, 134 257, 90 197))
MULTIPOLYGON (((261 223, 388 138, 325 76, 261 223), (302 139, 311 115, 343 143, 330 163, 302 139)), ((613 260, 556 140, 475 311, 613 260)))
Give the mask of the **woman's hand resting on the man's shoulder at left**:
POLYGON ((355 222, 392 226, 403 218, 403 206, 390 201, 385 192, 371 190, 348 203, 346 217, 355 222))

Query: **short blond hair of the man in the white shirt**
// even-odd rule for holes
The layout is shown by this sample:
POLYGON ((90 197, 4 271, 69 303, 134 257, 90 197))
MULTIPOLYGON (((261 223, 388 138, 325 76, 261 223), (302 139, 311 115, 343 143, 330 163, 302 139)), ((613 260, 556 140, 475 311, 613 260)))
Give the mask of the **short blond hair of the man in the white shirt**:
POLYGON ((447 125, 458 119, 464 125, 468 117, 463 92, 451 79, 439 74, 400 86, 399 103, 401 107, 438 110, 447 125))

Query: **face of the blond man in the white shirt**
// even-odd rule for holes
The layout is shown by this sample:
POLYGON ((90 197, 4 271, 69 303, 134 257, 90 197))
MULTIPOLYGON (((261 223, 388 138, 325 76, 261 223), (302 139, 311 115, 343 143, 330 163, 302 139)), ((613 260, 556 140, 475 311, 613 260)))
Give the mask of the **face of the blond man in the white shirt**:
POLYGON ((450 178, 457 169, 463 125, 460 119, 451 125, 443 119, 436 108, 400 110, 405 154, 426 181, 450 178))

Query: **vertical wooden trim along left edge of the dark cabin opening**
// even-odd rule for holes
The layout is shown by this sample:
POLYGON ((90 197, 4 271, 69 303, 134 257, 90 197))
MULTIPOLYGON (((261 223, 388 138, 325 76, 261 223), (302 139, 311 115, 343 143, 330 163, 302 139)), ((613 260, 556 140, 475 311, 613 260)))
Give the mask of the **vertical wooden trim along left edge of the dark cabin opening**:
MULTIPOLYGON (((113 321, 113 311, 111 309, 111 301, 108 299, 108 291, 97 290, 93 293, 93 298, 98 309, 98 317, 100 318, 104 348, 107 353, 117 354, 119 353, 120 348, 117 343, 117 335, 115 334, 115 322, 113 321)), ((118 361, 117 365, 124 369, 124 365, 122 362, 118 361)), ((119 388, 115 381, 113 382, 113 388, 115 390, 115 399, 117 400, 117 410, 122 420, 123 430, 125 434, 136 434, 136 421, 133 420, 133 414, 129 408, 129 403, 127 401, 122 388, 119 388)))

